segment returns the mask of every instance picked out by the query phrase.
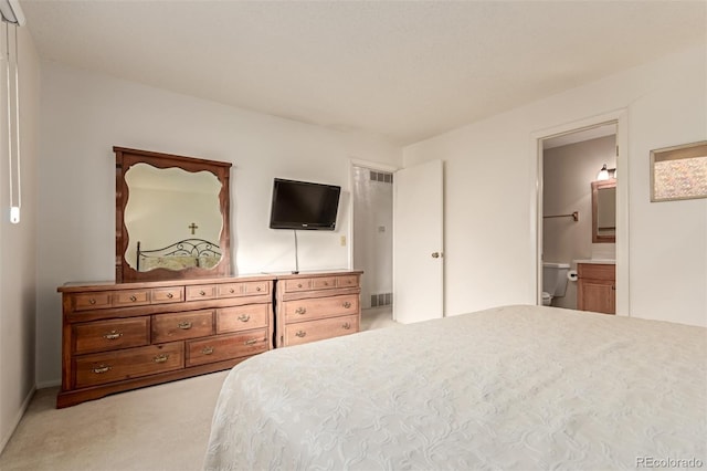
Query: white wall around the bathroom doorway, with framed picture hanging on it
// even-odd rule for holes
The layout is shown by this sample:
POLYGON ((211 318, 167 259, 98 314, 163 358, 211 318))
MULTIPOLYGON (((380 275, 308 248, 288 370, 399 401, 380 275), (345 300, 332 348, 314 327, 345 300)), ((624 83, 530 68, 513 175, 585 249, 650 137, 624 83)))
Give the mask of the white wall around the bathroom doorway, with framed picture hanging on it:
POLYGON ((403 149, 405 167, 445 161, 447 315, 535 304, 530 138, 625 108, 631 315, 707 325, 707 199, 648 198, 651 149, 707 139, 706 52, 686 50, 403 149))

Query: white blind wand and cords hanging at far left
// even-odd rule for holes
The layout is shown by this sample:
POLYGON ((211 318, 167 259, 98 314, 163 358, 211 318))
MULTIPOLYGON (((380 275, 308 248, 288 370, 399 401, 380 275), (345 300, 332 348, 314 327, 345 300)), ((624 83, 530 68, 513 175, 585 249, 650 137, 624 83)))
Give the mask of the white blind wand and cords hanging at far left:
MULTIPOLYGON (((4 75, 7 82, 6 104, 8 107, 7 138, 10 175, 10 222, 17 224, 20 222, 20 207, 22 195, 22 190, 20 187, 20 72, 18 66, 18 28, 23 25, 27 20, 18 0, 0 0, 0 15, 2 17, 2 22, 6 23, 6 54, 3 57, 1 57, 1 60, 4 66, 4 75), (14 27, 14 54, 10 54, 10 24, 14 27)), ((2 48, 0 48, 0 50, 2 48)))

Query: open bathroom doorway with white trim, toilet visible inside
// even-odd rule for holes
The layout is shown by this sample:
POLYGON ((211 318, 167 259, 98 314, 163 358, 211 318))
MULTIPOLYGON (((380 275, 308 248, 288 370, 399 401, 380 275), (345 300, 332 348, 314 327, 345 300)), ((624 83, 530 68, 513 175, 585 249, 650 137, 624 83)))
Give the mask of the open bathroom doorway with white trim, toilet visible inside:
POLYGON ((622 123, 625 125, 625 115, 616 114, 537 138, 538 304, 593 310, 585 307, 589 295, 612 296, 612 311, 627 315, 625 182, 621 188, 627 166, 621 157, 625 143, 622 123), (598 193, 598 185, 614 187, 612 198, 598 193), (603 237, 598 238, 599 232, 603 237), (602 271, 615 268, 615 275, 606 281, 605 291, 598 292, 597 284, 588 291, 588 284, 578 279, 580 264, 582 270, 590 264, 601 264, 602 271))

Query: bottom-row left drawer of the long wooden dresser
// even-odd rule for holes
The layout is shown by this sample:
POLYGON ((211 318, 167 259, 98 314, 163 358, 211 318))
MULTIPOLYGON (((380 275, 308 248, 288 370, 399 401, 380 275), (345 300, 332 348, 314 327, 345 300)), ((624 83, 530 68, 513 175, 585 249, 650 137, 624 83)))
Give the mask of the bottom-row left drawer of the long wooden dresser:
POLYGON ((119 352, 84 355, 74 358, 76 387, 102 385, 171 371, 184 366, 184 344, 128 348, 119 352))

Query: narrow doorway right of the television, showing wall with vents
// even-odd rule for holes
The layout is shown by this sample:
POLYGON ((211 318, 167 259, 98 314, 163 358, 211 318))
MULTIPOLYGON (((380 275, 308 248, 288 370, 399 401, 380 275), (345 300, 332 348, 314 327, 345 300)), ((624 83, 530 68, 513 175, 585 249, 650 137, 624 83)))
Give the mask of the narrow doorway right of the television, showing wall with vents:
POLYGON ((361 329, 392 323, 394 169, 354 163, 352 261, 361 278, 361 329))

